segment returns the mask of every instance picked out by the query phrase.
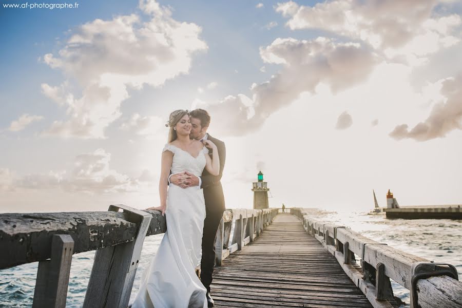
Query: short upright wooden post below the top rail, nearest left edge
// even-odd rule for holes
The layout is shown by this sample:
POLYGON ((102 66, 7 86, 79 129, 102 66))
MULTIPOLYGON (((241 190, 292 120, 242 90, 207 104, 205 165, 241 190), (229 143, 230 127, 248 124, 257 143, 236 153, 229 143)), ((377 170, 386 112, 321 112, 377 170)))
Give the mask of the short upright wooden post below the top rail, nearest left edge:
POLYGON ((51 259, 38 262, 33 308, 66 306, 74 240, 70 235, 53 235, 51 259))

